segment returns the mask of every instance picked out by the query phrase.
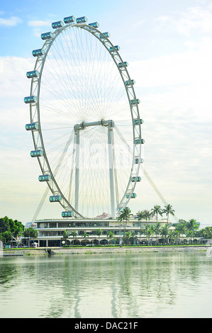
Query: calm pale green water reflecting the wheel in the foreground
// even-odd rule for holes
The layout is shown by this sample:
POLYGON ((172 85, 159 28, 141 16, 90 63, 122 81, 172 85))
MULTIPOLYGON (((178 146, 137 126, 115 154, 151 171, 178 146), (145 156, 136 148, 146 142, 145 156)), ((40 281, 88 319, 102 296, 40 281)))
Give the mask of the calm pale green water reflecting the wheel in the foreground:
POLYGON ((1 318, 211 318, 206 252, 0 258, 1 318))

